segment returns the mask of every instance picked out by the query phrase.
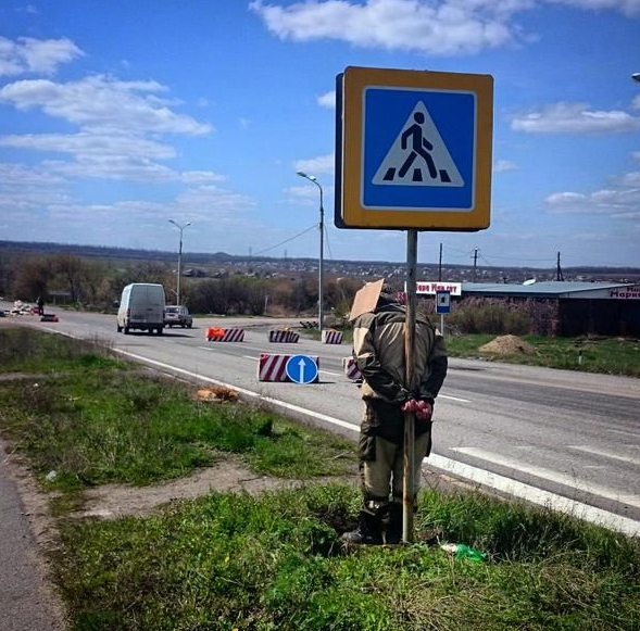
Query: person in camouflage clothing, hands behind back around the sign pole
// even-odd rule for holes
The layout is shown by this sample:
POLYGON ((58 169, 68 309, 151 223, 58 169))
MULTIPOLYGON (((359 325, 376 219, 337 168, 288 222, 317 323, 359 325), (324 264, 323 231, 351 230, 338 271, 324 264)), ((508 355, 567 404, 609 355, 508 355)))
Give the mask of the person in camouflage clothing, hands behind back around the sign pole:
POLYGON ((402 535, 404 412, 415 414, 414 506, 421 467, 431 451, 431 414, 447 376, 442 335, 425 316, 416 316, 414 369, 410 392, 404 376, 406 310, 382 286, 373 312, 359 315, 353 328, 353 358, 362 373, 364 416, 360 432, 363 504, 349 543, 398 543, 402 535))

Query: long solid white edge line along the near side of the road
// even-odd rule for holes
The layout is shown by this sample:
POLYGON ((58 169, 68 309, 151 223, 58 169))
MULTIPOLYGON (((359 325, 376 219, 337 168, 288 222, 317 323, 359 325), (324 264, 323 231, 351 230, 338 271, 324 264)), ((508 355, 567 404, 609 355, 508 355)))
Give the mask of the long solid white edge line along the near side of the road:
MULTIPOLYGON (((269 396, 263 396, 259 392, 253 392, 244 388, 237 388, 236 386, 233 386, 230 383, 225 383, 224 381, 212 379, 211 377, 199 375, 198 373, 192 373, 190 370, 185 370, 183 368, 175 368, 174 366, 170 366, 168 364, 163 364, 162 362, 148 359, 147 357, 135 355, 134 353, 129 353, 127 351, 122 351, 120 349, 114 349, 114 351, 122 355, 129 356, 134 359, 142 362, 145 364, 154 365, 170 371, 178 373, 196 379, 201 379, 203 381, 209 381, 210 383, 215 383, 217 386, 231 388, 233 390, 241 392, 246 396, 268 401, 273 405, 284 407, 285 409, 301 412, 306 416, 311 416, 313 418, 324 420, 331 425, 349 429, 354 433, 360 432, 359 426, 355 426, 351 422, 346 422, 344 420, 341 420, 339 418, 334 418, 326 414, 319 414, 317 412, 305 409, 303 407, 299 407, 298 405, 291 405, 289 403, 278 401, 277 399, 273 399, 269 396)), ((423 460, 423 465, 434 466, 438 469, 441 469, 442 471, 447 471, 454 476, 459 476, 472 482, 484 484, 486 487, 495 489, 497 491, 507 493, 509 495, 512 495, 514 497, 519 497, 527 502, 531 502, 540 506, 552 508, 553 510, 560 510, 562 513, 573 515, 578 519, 583 519, 585 521, 589 521, 591 523, 599 523, 601 526, 604 526, 605 528, 611 528, 612 530, 616 530, 617 532, 624 532, 625 534, 628 534, 630 537, 640 535, 640 521, 635 521, 633 519, 629 519, 628 517, 623 517, 620 515, 616 515, 615 513, 610 513, 608 510, 602 510, 601 508, 595 508, 594 506, 589 506, 588 504, 582 504, 581 502, 576 502, 575 500, 569 500, 568 497, 563 497, 562 495, 556 495, 555 493, 550 493, 549 491, 542 491, 541 489, 536 489, 535 487, 531 487, 529 484, 524 484, 523 482, 517 482, 516 480, 504 478, 503 476, 498 476, 495 474, 491 474, 490 471, 485 471, 484 469, 472 467, 470 465, 465 465, 464 463, 460 463, 457 460, 453 460, 444 456, 439 456, 438 454, 431 454, 428 458, 425 458, 423 460)))

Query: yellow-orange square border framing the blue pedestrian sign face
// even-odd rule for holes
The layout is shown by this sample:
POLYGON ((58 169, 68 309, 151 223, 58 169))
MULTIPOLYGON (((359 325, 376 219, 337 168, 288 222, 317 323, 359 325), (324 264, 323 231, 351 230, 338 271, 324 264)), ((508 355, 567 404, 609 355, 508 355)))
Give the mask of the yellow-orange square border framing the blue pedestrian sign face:
POLYGON ((342 79, 342 222, 348 228, 415 228, 475 231, 489 227, 493 138, 493 77, 349 66, 342 79), (362 206, 363 94, 372 86, 464 91, 476 94, 474 207, 468 211, 372 210, 362 206))

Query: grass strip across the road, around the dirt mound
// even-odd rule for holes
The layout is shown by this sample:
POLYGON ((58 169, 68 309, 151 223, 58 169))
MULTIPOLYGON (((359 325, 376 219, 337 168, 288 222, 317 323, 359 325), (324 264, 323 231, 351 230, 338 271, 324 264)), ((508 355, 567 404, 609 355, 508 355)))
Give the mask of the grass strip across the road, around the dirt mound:
POLYGON ((534 355, 497 355, 479 350, 495 337, 482 333, 450 336, 447 346, 452 357, 482 357, 512 364, 640 377, 640 340, 522 336, 536 349, 534 355))

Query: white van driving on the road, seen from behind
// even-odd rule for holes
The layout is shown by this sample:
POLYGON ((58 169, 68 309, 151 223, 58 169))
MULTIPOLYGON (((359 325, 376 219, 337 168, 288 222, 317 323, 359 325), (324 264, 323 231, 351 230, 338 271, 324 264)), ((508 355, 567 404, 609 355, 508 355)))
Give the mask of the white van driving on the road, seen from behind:
POLYGON ((127 285, 120 299, 117 332, 128 335, 130 329, 147 330, 161 336, 164 329, 164 289, 162 285, 133 282, 127 285))

